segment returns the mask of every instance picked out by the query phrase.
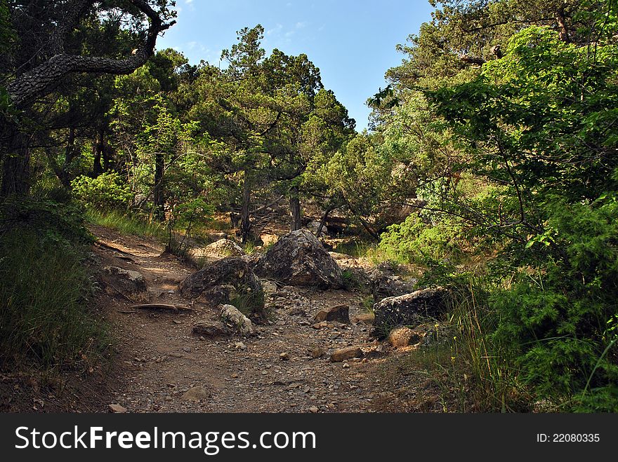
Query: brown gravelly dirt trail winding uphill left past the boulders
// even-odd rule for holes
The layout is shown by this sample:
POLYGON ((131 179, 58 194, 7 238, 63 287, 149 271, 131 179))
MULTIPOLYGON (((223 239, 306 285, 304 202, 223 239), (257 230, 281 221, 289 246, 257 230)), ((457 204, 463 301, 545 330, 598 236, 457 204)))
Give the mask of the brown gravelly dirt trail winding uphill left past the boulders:
MULTIPOLYGON (((152 240, 101 227, 91 231, 99 238, 94 249, 101 266, 119 266, 145 277, 147 292, 135 301, 190 306, 178 294, 178 283, 195 269, 163 254, 162 246, 152 240)), ((120 370, 112 402, 129 412, 409 410, 416 386, 400 383, 400 389, 393 391, 392 379, 388 386, 382 383, 387 380, 382 362, 392 360, 393 354, 345 363, 328 360, 331 351, 345 346, 374 350, 377 345, 369 343, 369 326, 353 322, 315 329, 311 325, 318 311, 342 303, 350 305, 354 319, 363 312, 361 300, 362 295, 354 292, 284 287, 267 297, 276 318, 258 327, 258 337, 204 340, 192 334, 192 325, 215 318, 211 308, 195 304, 195 311, 180 313, 134 310, 124 295, 107 289, 98 304, 119 339, 120 370), (311 347, 321 348, 324 355, 311 358, 311 347), (281 353, 288 353, 289 360, 282 360, 281 353), (191 388, 199 400, 183 398, 191 388)))

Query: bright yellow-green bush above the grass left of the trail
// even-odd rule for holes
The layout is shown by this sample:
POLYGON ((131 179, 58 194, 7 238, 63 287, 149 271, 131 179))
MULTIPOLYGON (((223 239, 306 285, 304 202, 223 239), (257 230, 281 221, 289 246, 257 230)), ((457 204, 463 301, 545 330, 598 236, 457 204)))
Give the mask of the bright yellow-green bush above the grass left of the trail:
POLYGON ((133 199, 129 186, 117 172, 96 178, 81 175, 71 183, 74 195, 85 205, 101 210, 126 210, 133 199))

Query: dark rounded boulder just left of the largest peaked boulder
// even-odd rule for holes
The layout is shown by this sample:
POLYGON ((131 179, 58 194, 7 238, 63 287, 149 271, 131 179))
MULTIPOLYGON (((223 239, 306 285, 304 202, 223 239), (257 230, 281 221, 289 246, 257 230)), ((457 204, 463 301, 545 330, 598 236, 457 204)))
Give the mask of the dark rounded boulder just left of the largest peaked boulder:
POLYGON ((204 266, 180 283, 180 293, 213 308, 233 304, 244 307, 254 318, 265 317, 260 280, 239 257, 224 258, 204 266))

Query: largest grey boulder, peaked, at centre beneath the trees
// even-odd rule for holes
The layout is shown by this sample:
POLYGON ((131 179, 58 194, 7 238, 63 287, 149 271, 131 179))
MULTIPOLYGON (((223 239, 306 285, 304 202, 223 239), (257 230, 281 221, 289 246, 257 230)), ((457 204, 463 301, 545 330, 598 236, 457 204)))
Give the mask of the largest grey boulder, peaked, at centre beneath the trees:
POLYGON ((255 267, 256 274, 301 287, 339 289, 341 269, 310 231, 299 229, 280 238, 255 267))

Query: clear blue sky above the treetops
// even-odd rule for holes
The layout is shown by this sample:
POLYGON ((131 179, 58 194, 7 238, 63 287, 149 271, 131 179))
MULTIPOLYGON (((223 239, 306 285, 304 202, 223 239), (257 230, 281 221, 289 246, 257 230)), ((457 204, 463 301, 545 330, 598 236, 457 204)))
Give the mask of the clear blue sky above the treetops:
POLYGON ((359 131, 367 127, 367 98, 402 60, 395 46, 418 33, 433 11, 428 0, 176 0, 176 6, 178 23, 159 38, 159 50, 176 48, 192 64, 218 64, 237 30, 261 24, 266 52, 308 55, 359 131))

